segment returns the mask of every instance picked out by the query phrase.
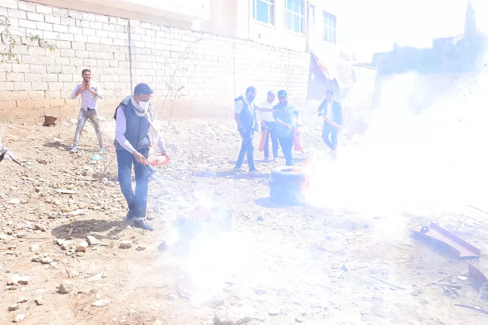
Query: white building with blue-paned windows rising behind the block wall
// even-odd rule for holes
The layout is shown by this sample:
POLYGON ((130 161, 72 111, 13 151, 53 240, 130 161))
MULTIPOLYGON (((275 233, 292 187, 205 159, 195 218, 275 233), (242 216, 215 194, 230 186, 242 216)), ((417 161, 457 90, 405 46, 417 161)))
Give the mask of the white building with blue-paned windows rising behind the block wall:
MULTIPOLYGON (((6 0, 15 1, 15 0, 6 0)), ((34 0, 339 57, 337 0, 34 0)))

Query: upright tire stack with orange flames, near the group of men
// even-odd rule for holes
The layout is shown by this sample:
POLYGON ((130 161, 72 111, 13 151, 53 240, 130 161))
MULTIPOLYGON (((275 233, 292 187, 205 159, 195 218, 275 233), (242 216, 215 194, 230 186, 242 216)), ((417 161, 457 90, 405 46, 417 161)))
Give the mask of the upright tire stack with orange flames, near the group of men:
POLYGON ((303 189, 308 186, 308 173, 302 168, 278 167, 268 180, 269 199, 282 205, 306 203, 303 189))

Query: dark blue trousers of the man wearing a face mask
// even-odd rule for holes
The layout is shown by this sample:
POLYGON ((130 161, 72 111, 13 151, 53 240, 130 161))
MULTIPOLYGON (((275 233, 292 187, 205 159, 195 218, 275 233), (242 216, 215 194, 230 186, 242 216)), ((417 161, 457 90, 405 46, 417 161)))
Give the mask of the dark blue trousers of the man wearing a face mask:
MULTIPOLYGON (((137 150, 146 159, 149 154, 149 148, 137 150)), ((127 150, 116 150, 118 164, 118 182, 120 189, 126 198, 129 210, 136 218, 146 216, 147 206, 147 185, 149 183, 149 172, 146 167, 138 163, 134 155, 127 150), (136 192, 132 190, 132 165, 134 164, 134 173, 136 175, 136 192)))

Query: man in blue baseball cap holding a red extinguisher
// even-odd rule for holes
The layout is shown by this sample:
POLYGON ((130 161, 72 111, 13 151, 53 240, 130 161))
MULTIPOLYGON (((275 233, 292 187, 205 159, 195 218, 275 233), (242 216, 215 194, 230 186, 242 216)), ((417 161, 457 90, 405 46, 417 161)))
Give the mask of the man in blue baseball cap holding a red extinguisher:
POLYGON ((293 166, 293 129, 298 124, 298 110, 288 102, 286 90, 278 91, 279 104, 273 107, 273 116, 276 120, 276 133, 280 142, 286 166, 293 166))

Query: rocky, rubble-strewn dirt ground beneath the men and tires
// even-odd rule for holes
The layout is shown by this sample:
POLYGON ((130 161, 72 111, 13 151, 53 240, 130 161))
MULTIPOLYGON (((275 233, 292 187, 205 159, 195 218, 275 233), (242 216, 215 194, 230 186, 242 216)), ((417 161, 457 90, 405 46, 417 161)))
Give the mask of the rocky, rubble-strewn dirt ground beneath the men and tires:
MULTIPOLYGON (((306 122, 311 125, 304 139, 309 152, 325 149, 320 121, 306 122)), ((114 122, 103 125, 106 142, 113 142, 114 122)), ((410 227, 440 217, 388 219, 273 205, 267 199, 266 175, 273 164, 262 163, 262 153, 256 159, 263 177, 230 172, 239 146, 231 120, 172 122, 165 134, 172 159, 149 188, 154 232, 125 222, 118 183, 98 177, 113 157, 113 146, 107 146, 106 163, 92 160, 98 148, 87 123, 83 152, 69 154, 74 129, 72 122, 53 127, 0 123, 3 143, 32 169, 0 164, 0 274, 6 287, 0 291, 2 324, 18 314, 25 316, 22 323, 50 325, 212 324, 215 316, 224 324, 259 325, 462 325, 488 320, 488 314, 454 306, 488 310, 486 296, 471 278, 456 279, 467 273, 468 261, 451 260, 410 237, 410 227), (231 209, 234 233, 217 245, 195 248, 186 263, 160 253, 158 245, 171 234, 171 221, 197 204, 231 209), (403 235, 388 236, 390 226, 403 235), (76 245, 87 235, 100 243, 86 252, 63 250, 55 242, 71 239, 76 245), (132 240, 132 247, 119 248, 121 240, 132 240), (45 263, 33 262, 37 255, 45 263), (7 283, 16 274, 28 280, 12 290, 7 283), (219 302, 201 305, 196 298, 182 297, 177 283, 189 274, 193 286, 211 287, 219 302), (459 296, 430 284, 441 278, 457 281, 459 296), (64 280, 73 286, 67 294, 57 288, 64 280), (92 306, 99 300, 109 303, 92 306)), ((297 164, 305 155, 297 154, 297 164)), ((281 165, 283 158, 276 163, 281 165)), ((116 159, 106 172, 116 176, 116 159)), ((488 249, 486 231, 452 228, 452 222, 447 226, 483 252, 488 249)), ((488 267, 483 259, 474 263, 488 267)))

